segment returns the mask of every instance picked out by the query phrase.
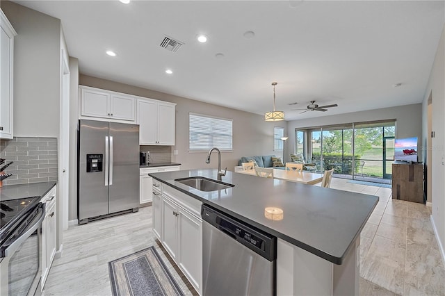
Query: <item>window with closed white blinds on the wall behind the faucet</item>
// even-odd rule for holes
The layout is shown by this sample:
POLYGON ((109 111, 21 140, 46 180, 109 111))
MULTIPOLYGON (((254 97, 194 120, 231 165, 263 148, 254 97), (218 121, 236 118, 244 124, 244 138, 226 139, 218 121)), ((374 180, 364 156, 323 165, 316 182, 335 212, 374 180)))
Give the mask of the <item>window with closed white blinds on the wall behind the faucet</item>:
POLYGON ((189 151, 232 151, 232 120, 190 113, 188 127, 189 151))

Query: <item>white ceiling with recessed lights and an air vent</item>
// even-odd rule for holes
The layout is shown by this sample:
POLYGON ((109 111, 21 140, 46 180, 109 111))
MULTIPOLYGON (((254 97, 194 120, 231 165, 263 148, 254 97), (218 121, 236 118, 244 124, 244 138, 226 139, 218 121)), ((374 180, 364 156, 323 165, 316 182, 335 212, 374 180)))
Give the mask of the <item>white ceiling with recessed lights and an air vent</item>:
POLYGON ((81 74, 257 114, 277 81, 286 120, 423 101, 445 19, 444 1, 15 2, 61 19, 81 74), (291 110, 312 100, 339 106, 291 110))

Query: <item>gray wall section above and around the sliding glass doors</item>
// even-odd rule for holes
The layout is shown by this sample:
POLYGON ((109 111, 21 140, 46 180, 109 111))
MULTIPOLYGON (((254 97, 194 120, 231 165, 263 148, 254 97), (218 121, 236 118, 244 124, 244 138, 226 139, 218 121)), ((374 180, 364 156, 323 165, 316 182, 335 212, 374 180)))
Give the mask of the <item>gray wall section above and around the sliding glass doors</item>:
MULTIPOLYGON (((329 111, 328 111, 329 112, 329 111)), ((288 122, 289 140, 287 151, 295 151, 295 129, 310 126, 324 126, 330 124, 345 124, 351 122, 368 122, 374 120, 396 120, 396 138, 417 137, 418 151, 421 152, 422 138, 422 104, 412 104, 391 108, 366 110, 360 112, 314 117, 305 120, 288 122)), ((422 155, 419 153, 419 161, 422 155)))

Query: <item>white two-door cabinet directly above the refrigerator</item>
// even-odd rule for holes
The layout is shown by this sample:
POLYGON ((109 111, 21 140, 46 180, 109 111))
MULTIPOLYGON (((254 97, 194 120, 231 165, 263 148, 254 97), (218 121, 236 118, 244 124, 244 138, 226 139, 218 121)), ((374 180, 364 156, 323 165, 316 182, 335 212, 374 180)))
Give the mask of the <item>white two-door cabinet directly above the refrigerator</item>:
POLYGON ((136 122, 136 98, 118 92, 81 86, 81 117, 136 122))

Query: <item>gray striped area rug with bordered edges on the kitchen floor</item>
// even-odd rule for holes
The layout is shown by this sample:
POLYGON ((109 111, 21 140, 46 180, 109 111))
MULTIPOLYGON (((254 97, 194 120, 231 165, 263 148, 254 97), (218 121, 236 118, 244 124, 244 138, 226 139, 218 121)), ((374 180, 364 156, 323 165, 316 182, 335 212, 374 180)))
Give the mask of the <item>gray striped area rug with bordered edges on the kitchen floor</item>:
POLYGON ((152 246, 108 262, 114 296, 184 295, 152 246))

